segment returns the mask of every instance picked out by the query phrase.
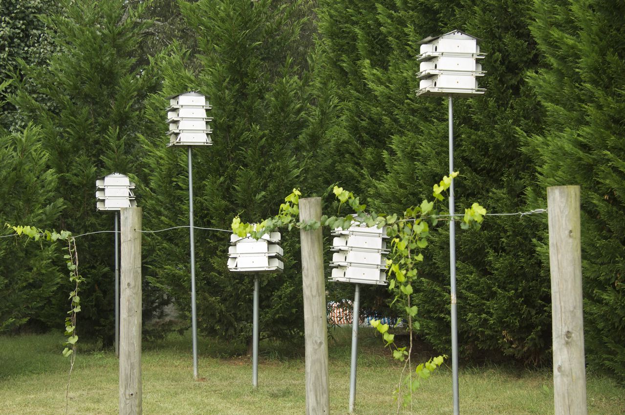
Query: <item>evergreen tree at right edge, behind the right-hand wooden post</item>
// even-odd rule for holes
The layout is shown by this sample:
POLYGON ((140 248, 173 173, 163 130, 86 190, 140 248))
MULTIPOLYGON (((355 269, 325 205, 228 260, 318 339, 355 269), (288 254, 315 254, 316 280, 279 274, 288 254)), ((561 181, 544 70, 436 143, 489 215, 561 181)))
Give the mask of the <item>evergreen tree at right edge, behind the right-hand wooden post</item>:
MULTIPOLYGON (((541 193, 581 185, 587 359, 625 379, 625 4, 535 3, 531 29, 546 65, 530 81, 546 110, 528 134, 541 193)), ((546 233, 541 241, 547 244, 546 233)), ((548 268, 546 248, 538 247, 548 268)))

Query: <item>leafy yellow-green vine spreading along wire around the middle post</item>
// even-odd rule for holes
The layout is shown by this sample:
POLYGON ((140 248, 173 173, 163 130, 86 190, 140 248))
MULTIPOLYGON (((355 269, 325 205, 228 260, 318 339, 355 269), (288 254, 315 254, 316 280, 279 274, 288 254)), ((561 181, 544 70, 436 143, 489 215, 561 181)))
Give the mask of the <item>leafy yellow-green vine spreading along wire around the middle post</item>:
MULTIPOLYGON (((438 222, 444 220, 454 220, 439 213, 437 204, 444 200, 444 193, 451 186, 451 181, 458 175, 457 172, 444 176, 441 182, 433 186, 432 197, 434 200, 423 200, 420 205, 407 208, 400 217, 396 213, 386 215, 374 211, 367 211, 366 205, 361 205, 358 197, 352 192, 335 186, 334 195, 339 200, 337 215, 321 217, 320 221, 311 220, 309 222, 297 222, 299 215, 299 197, 301 192, 294 189, 293 192, 284 199, 280 205, 276 216, 267 218, 260 223, 243 223, 238 216, 232 220, 232 232, 239 237, 246 237, 248 234, 252 238, 259 239, 267 232, 272 232, 278 228, 293 227, 303 230, 316 230, 321 226, 331 229, 342 228, 346 230, 352 225, 365 224, 367 227, 386 227, 387 237, 389 237, 391 250, 386 260, 387 276, 389 281, 388 289, 393 298, 391 306, 394 306, 404 316, 406 316, 406 330, 409 332, 409 344, 399 346, 395 343, 394 334, 389 333, 389 325, 381 324, 379 320, 372 320, 371 325, 382 335, 384 346, 392 350, 392 356, 397 361, 403 363, 399 376, 397 388, 394 396, 397 400, 397 413, 401 405, 410 406, 412 411, 412 393, 421 386, 421 381, 429 378, 431 373, 443 363, 447 357, 445 355, 436 356, 425 363, 412 363, 412 334, 419 330, 419 321, 416 320, 418 305, 413 304, 412 282, 419 275, 419 265, 423 261, 421 250, 427 247, 427 240, 430 236, 430 227, 435 227, 438 222), (341 207, 348 205, 354 212, 353 215, 339 216, 341 207), (413 369, 414 366, 414 369, 413 369), (404 392, 407 391, 407 392, 404 392)), ((470 208, 464 211, 461 219, 461 228, 479 228, 486 215, 486 209, 479 203, 473 203, 470 208)), ((354 316, 356 318, 356 316, 354 316)))

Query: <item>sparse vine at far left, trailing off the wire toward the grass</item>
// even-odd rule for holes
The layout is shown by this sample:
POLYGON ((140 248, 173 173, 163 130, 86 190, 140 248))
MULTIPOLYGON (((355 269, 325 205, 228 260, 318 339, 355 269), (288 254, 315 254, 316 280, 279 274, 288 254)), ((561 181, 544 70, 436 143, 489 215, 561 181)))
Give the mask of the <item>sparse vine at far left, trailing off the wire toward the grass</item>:
POLYGON ((69 281, 73 283, 73 290, 69 292, 70 310, 65 318, 65 336, 66 339, 63 343, 63 356, 69 358, 69 378, 68 387, 66 391, 66 407, 65 413, 68 412, 69 404, 69 385, 71 383, 72 370, 74 368, 74 362, 76 361, 76 342, 78 342, 78 334, 76 334, 76 314, 81 311, 79 288, 83 283, 84 278, 78 272, 78 250, 76 250, 76 240, 72 236, 71 232, 62 230, 56 232, 56 230, 42 230, 32 226, 13 226, 9 223, 5 223, 5 226, 13 230, 17 237, 26 237, 27 240, 34 240, 36 242, 64 242, 66 245, 63 250, 67 253, 63 255, 66 260, 66 265, 69 271, 69 281))

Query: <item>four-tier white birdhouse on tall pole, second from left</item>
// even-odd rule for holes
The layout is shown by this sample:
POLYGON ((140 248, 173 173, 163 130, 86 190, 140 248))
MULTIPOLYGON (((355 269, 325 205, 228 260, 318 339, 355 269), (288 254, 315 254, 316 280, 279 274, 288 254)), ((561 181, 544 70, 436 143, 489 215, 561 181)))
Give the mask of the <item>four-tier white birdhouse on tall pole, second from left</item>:
POLYGON ((167 122, 169 124, 169 144, 172 145, 211 145, 211 127, 206 116, 211 105, 206 97, 194 90, 168 97, 167 122))

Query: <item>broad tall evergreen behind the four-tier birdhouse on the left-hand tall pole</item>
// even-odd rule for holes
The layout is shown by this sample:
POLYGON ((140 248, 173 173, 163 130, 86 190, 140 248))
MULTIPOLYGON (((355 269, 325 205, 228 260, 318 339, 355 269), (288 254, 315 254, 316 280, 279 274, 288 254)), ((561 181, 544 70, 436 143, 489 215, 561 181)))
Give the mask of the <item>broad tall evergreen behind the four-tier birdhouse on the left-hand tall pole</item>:
MULTIPOLYGON (((232 218, 257 221, 277 213, 299 185, 297 137, 302 130, 302 69, 291 56, 302 39, 301 2, 203 0, 182 3, 196 30, 199 71, 174 46, 158 57, 163 92, 151 97, 146 132, 144 215, 146 228, 188 221, 187 151, 166 148, 167 95, 195 89, 213 109, 211 147, 192 151, 197 227, 229 229, 232 218)), ((284 273, 263 276, 261 336, 281 337, 302 328, 299 247, 295 233, 282 235, 284 273)), ((190 311, 188 230, 146 235, 154 285, 190 311)), ((227 271, 229 234, 197 230, 196 291, 201 333, 227 339, 251 337, 252 276, 227 271)))

